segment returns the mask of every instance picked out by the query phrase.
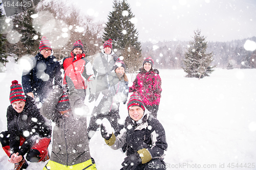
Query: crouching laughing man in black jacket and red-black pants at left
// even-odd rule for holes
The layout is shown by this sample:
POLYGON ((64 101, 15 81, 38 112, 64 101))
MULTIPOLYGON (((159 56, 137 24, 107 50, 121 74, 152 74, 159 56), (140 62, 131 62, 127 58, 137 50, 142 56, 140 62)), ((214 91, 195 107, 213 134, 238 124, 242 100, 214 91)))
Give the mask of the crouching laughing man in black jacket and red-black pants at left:
POLYGON ((10 103, 7 108, 7 131, 0 134, 0 142, 14 170, 26 169, 30 162, 49 159, 51 122, 42 116, 31 96, 24 93, 17 80, 12 81, 10 103), (25 155, 26 159, 25 159, 25 155))

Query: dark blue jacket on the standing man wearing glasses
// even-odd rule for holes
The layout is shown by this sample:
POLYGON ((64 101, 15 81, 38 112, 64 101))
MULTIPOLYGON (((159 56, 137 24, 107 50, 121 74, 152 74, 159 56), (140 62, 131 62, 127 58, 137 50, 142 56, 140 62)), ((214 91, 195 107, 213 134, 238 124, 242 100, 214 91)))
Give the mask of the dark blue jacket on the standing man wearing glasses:
POLYGON ((54 56, 44 58, 40 53, 32 61, 34 67, 28 72, 23 71, 22 86, 26 94, 33 92, 42 102, 54 85, 61 84, 60 64, 54 56))

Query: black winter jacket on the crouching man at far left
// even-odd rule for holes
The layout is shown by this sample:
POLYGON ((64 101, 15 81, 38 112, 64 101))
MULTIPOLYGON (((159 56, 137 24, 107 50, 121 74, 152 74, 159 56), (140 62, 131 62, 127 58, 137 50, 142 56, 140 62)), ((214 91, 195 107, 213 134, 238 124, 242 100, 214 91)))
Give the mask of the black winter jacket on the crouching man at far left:
POLYGON ((7 108, 7 130, 10 134, 10 149, 13 153, 24 156, 36 139, 51 138, 51 123, 39 112, 33 98, 26 95, 25 107, 21 113, 16 112, 12 105, 7 108), (27 135, 28 136, 25 136, 27 135), (19 136, 26 140, 19 149, 19 136))

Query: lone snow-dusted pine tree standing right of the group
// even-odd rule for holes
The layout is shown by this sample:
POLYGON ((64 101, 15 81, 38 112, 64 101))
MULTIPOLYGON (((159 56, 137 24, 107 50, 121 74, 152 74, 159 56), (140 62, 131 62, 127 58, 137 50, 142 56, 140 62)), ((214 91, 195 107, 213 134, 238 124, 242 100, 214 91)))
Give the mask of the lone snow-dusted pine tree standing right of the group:
POLYGON ((200 36, 201 31, 194 31, 194 40, 189 41, 188 51, 185 53, 184 71, 186 77, 204 78, 214 71, 211 66, 212 53, 206 53, 207 42, 204 36, 200 36))

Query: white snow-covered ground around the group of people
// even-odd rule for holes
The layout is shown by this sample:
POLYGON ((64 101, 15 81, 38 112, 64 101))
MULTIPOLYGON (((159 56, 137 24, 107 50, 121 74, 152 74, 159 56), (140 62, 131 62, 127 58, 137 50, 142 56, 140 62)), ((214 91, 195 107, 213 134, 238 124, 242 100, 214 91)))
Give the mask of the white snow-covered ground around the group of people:
MULTIPOLYGON (((168 142, 167 169, 256 169, 256 69, 216 69, 201 80, 185 78, 183 70, 159 71, 163 91, 158 119, 168 142)), ((11 81, 21 83, 21 72, 11 62, 7 72, 0 73, 1 131, 7 129, 11 81)), ((87 104, 92 110, 93 103, 87 104)), ((121 118, 127 114, 121 104, 121 118)), ((98 170, 122 167, 125 154, 105 145, 99 131, 90 150, 98 170)), ((30 163, 27 169, 42 169, 45 164, 30 163)), ((11 168, 0 149, 0 169, 11 168)))

